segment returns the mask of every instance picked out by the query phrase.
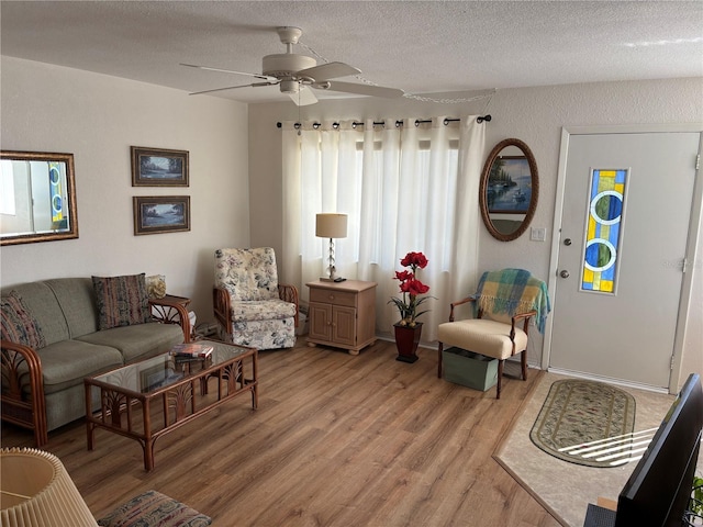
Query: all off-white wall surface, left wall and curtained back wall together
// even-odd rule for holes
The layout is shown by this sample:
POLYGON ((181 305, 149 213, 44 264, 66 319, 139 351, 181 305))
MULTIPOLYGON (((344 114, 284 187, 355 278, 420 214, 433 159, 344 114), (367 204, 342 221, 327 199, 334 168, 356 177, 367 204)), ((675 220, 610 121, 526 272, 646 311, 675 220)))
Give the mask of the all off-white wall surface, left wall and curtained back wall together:
MULTIPOLYGON (((481 229, 464 240, 481 268, 520 266, 547 277, 562 126, 703 122, 703 79, 603 82, 499 91, 486 100, 438 104, 402 99, 252 104, 2 57, 2 149, 75 155, 80 237, 5 246, 2 287, 54 277, 166 274, 172 294, 193 299, 199 321, 212 319, 212 254, 224 246, 268 245, 280 251, 281 144, 278 121, 397 119, 490 113, 487 152, 517 137, 537 159, 540 195, 527 235, 501 243, 481 229), (299 113, 300 112, 300 113, 299 113), (247 115, 248 113, 248 115, 247 115), (247 122, 248 119, 248 122, 247 122), (248 131, 248 136, 247 136, 248 131), (190 152, 189 188, 133 188, 130 146, 190 152), (133 195, 191 197, 191 232, 134 236, 133 195), (250 194, 250 195, 249 195, 250 194)), ((703 370, 703 242, 694 269, 682 372, 703 370)), ((283 279, 286 277, 282 277, 283 279)), ((390 278, 389 278, 390 279, 390 278)), ((542 341, 529 350, 539 362, 542 341)))

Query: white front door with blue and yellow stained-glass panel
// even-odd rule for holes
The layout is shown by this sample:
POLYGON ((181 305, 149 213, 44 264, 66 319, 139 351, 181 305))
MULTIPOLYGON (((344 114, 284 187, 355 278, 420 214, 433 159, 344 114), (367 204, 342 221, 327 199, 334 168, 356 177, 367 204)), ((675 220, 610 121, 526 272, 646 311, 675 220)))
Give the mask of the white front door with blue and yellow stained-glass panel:
POLYGON ((700 141, 569 136, 549 368, 669 386, 700 141))

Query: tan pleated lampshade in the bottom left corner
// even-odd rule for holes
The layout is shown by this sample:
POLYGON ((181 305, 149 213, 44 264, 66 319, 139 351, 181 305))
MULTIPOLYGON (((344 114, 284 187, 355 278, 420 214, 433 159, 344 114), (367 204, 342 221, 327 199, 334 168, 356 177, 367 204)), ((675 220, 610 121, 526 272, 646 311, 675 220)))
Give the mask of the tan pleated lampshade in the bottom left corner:
POLYGON ((96 527, 88 505, 53 453, 34 448, 0 450, 2 527, 96 527))

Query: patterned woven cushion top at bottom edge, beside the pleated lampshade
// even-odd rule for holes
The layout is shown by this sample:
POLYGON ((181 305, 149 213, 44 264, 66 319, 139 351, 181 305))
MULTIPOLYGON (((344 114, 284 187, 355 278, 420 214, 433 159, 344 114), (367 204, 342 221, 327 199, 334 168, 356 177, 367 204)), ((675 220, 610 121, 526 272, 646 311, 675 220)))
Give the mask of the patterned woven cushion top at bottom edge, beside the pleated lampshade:
POLYGON ((204 527, 212 519, 160 492, 147 491, 98 520, 101 527, 204 527))

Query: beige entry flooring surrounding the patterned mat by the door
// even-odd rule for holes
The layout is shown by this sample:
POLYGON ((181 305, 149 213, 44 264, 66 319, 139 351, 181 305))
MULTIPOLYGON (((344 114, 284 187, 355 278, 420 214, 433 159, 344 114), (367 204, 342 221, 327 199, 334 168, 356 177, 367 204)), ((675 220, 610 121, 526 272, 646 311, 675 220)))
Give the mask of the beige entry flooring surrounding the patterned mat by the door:
MULTIPOLYGON (((531 370, 531 373, 533 370, 531 370)), ((600 469, 567 463, 537 448, 529 439, 529 430, 547 399, 555 381, 573 379, 551 372, 535 372, 539 375, 522 408, 517 412, 511 429, 501 438, 493 459, 520 483, 559 524, 583 527, 589 503, 599 497, 617 500, 637 463, 626 463, 612 469, 600 469)), ((635 397, 637 413, 635 430, 658 427, 673 402, 673 395, 618 386, 635 397)), ((699 458, 699 471, 703 456, 699 458)))

